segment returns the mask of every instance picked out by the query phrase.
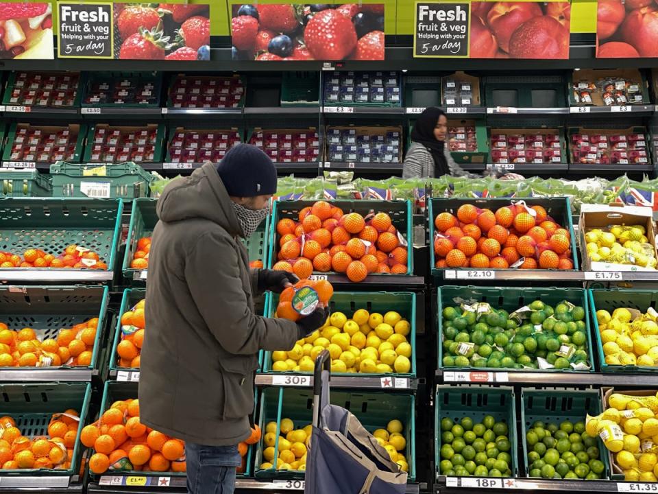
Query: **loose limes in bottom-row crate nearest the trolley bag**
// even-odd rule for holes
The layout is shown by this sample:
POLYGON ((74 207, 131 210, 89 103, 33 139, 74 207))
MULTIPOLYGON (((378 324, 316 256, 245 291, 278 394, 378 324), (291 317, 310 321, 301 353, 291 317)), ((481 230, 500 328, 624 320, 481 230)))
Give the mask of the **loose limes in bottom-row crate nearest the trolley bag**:
POLYGON ((512 448, 504 422, 491 415, 475 423, 470 417, 455 422, 441 419, 441 475, 463 477, 509 477, 512 475, 512 448))

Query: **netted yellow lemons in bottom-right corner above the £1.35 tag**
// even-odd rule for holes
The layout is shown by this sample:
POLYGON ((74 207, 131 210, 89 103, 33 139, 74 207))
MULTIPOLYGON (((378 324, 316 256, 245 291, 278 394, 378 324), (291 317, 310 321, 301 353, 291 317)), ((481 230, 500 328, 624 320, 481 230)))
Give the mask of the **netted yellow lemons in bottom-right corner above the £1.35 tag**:
POLYGON ((626 481, 657 482, 658 398, 613 393, 608 405, 599 416, 587 416, 587 434, 601 437, 626 481))

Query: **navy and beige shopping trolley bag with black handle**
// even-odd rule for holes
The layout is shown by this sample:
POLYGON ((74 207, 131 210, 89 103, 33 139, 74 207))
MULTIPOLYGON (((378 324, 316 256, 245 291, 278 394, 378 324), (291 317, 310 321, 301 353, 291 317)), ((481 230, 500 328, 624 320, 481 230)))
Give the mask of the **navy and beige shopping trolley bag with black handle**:
POLYGON ((306 494, 403 494, 406 473, 351 412, 329 403, 330 355, 315 361, 306 494))

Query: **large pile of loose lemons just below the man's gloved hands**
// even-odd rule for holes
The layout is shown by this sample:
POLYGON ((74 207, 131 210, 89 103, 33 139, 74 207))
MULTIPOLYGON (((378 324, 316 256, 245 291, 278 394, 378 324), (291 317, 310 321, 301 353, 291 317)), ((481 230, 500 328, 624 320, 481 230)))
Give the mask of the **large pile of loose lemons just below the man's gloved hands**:
POLYGON ((315 358, 327 349, 332 373, 406 374, 411 371, 409 333, 409 321, 395 311, 382 315, 358 309, 350 319, 334 312, 290 351, 272 352, 272 370, 313 372, 315 358))

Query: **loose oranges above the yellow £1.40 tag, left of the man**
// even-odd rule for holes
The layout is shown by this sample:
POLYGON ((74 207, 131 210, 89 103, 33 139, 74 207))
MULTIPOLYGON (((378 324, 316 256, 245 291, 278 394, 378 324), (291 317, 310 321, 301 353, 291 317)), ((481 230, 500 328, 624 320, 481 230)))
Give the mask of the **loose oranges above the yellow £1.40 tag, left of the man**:
POLYGON ((139 421, 139 400, 115 401, 101 418, 82 429, 80 442, 93 447, 93 473, 119 471, 186 471, 185 443, 139 421))

